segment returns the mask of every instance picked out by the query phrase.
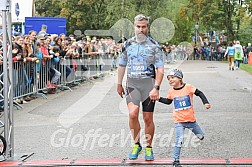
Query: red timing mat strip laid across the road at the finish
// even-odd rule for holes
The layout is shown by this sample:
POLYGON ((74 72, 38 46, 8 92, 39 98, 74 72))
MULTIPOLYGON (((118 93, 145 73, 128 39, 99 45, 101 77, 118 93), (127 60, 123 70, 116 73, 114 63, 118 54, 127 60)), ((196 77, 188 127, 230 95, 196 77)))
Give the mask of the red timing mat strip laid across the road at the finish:
MULTIPOLYGON (((159 158, 154 161, 144 159, 80 159, 80 160, 32 160, 32 161, 4 161, 0 166, 74 166, 74 165, 102 165, 102 166, 125 166, 125 165, 170 165, 172 159, 159 158)), ((252 158, 183 158, 182 165, 252 165, 252 158)))

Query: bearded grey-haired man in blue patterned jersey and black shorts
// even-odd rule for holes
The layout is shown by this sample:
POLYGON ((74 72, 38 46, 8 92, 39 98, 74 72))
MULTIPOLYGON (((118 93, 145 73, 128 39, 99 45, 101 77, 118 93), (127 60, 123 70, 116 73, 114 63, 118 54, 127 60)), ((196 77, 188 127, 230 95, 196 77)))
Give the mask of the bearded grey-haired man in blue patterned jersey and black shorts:
POLYGON ((135 36, 125 41, 119 57, 117 92, 125 95, 122 80, 127 67, 126 102, 129 111, 129 127, 134 139, 134 147, 129 159, 135 160, 142 151, 140 144, 139 110, 142 104, 145 124, 145 160, 154 160, 152 139, 154 136, 153 112, 159 97, 159 86, 163 79, 164 53, 159 44, 147 36, 149 18, 139 14, 134 20, 135 36), (155 71, 157 71, 155 75, 155 71))

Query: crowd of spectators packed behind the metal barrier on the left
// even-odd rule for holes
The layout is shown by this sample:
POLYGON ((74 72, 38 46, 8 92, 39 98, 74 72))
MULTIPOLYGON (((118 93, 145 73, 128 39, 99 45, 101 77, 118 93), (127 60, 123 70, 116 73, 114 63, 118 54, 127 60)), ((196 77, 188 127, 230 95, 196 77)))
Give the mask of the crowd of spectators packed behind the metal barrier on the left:
MULTIPOLYGON (((14 98, 20 104, 36 98, 34 95, 36 86, 39 85, 38 89, 43 89, 59 84, 63 71, 67 79, 78 69, 93 70, 93 73, 96 73, 97 70, 102 71, 104 66, 107 66, 107 69, 115 70, 121 48, 121 44, 115 43, 110 37, 99 39, 84 35, 75 37, 65 34, 47 34, 43 30, 39 33, 30 31, 27 35, 13 36, 12 40, 13 90, 14 98), (62 60, 66 59, 69 63, 62 64, 62 60)), ((2 46, 2 38, 0 42, 2 46)), ((1 49, 1 64, 2 54, 1 49)), ((89 77, 93 79, 95 76, 89 77)), ((47 90, 41 92, 55 93, 55 89, 47 90)))

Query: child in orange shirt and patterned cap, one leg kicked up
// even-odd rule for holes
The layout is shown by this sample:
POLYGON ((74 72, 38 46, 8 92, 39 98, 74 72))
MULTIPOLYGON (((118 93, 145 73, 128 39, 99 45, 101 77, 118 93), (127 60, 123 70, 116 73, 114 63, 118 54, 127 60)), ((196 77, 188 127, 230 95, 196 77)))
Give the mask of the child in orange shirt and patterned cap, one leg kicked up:
POLYGON ((194 115, 193 95, 201 98, 206 109, 209 109, 211 105, 202 91, 191 84, 183 82, 183 73, 180 69, 172 69, 168 73, 167 79, 172 88, 168 90, 166 98, 160 97, 158 101, 167 105, 171 103, 174 105, 173 121, 176 130, 176 143, 174 146, 173 167, 181 167, 179 160, 185 128, 192 130, 200 140, 204 139, 204 133, 196 122, 194 115))

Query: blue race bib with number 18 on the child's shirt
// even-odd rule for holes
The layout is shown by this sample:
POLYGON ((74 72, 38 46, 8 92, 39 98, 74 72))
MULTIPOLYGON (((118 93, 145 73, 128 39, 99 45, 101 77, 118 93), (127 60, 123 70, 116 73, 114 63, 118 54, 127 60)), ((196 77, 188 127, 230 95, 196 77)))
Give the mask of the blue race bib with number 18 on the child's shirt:
POLYGON ((191 99, 189 95, 174 98, 175 111, 186 110, 191 107, 191 99))

